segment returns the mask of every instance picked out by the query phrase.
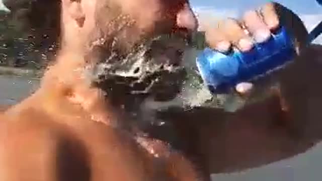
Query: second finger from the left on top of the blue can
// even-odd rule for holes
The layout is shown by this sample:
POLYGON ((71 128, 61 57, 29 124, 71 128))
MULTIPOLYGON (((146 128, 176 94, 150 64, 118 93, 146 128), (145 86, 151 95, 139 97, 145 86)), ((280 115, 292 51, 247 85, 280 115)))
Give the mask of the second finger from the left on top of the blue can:
POLYGON ((227 19, 218 24, 218 28, 224 33, 226 40, 230 41, 240 51, 248 51, 253 48, 252 39, 240 24, 233 19, 227 19))

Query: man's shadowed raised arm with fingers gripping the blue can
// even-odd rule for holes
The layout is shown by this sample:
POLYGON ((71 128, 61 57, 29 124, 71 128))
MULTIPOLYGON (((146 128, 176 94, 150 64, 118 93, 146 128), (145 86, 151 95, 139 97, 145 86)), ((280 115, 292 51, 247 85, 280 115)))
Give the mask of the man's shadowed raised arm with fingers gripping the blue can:
MULTIPOLYGON (((306 29, 300 19, 285 7, 272 4, 265 9, 266 21, 254 20, 254 14, 245 16, 255 34, 263 28, 274 30, 276 25, 267 25, 281 15, 289 21, 284 24, 296 35, 300 55, 295 63, 285 69, 280 76, 281 95, 270 97, 262 102, 249 105, 236 113, 224 113, 215 109, 194 109, 190 112, 175 111, 163 114, 173 129, 171 140, 176 147, 184 150, 192 160, 206 170, 204 174, 231 172, 278 161, 313 146, 322 137, 319 131, 322 126, 322 113, 319 105, 322 101, 321 46, 314 45, 302 49, 306 40, 306 29), (266 27, 265 27, 266 26, 266 27), (286 103, 287 111, 281 109, 280 97, 286 103), (209 170, 209 172, 207 172, 209 170)), ((210 46, 218 50, 220 42, 235 45, 245 38, 235 20, 223 22, 221 29, 206 32, 210 46), (234 32, 233 32, 234 31, 234 32), (229 32, 228 35, 223 32, 229 32), (229 37, 230 36, 230 37, 229 37)), ((220 26, 219 26, 220 27, 220 26)), ((222 48, 222 47, 221 47, 222 48)), ((167 127, 167 128, 166 128, 167 127)), ((156 137, 164 137, 163 131, 153 131, 156 137)), ((169 134, 169 131, 164 131, 169 134)))

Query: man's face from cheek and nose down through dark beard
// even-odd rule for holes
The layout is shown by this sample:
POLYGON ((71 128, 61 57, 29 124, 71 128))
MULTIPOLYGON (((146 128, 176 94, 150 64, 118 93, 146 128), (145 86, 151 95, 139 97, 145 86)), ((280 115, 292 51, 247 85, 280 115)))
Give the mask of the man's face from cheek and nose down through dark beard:
POLYGON ((184 68, 180 66, 183 52, 197 28, 189 3, 82 1, 78 9, 82 8, 85 14, 85 57, 97 64, 95 77, 101 85, 109 85, 104 89, 117 90, 118 94, 161 94, 159 97, 173 98, 184 78, 184 68))

